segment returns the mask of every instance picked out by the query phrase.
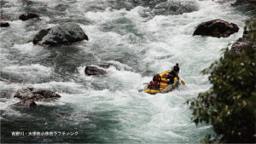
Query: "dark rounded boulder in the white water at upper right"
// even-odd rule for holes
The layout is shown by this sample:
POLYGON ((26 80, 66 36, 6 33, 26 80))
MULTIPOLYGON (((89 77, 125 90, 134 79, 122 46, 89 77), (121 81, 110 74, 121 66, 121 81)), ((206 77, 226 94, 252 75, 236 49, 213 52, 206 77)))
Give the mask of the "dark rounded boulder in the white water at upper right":
POLYGON ((216 19, 201 23, 196 27, 194 36, 230 37, 231 34, 238 32, 239 27, 229 21, 216 19))

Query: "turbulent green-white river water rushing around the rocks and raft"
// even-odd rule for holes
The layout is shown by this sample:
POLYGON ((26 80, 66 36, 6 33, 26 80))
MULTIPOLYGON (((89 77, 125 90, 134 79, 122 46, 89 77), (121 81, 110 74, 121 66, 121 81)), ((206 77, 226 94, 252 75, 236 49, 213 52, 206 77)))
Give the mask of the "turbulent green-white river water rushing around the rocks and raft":
POLYGON ((201 70, 220 49, 241 37, 248 16, 206 0, 8 0, 1 1, 1 142, 167 142, 197 143, 211 125, 195 126, 185 104, 209 89, 201 70), (20 14, 42 20, 18 20, 20 14), (225 38, 193 37, 207 20, 230 20, 240 31, 225 38), (73 21, 89 41, 55 48, 32 44, 41 29, 73 21), (179 86, 166 95, 139 93, 154 73, 180 65, 179 86), (106 64, 108 75, 86 76, 85 66, 106 64), (18 109, 15 91, 34 87, 56 91, 58 101, 18 109), (78 132, 72 136, 12 136, 12 131, 78 132))

